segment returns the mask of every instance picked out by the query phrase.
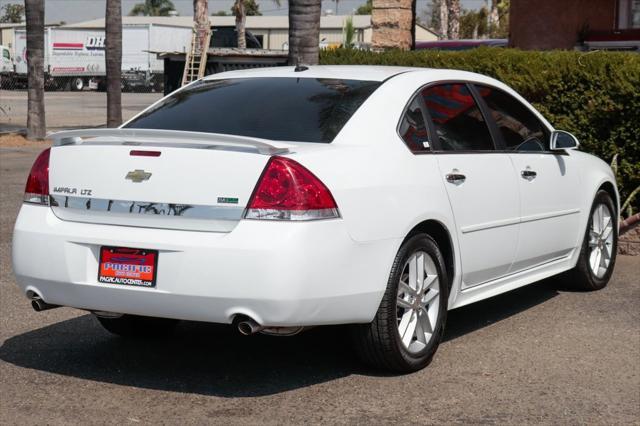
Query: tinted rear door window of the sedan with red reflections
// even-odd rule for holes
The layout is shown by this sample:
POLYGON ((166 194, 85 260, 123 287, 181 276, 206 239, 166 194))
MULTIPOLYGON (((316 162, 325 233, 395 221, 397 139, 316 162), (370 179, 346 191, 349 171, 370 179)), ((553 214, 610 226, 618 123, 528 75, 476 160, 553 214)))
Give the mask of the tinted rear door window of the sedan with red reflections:
POLYGON ((493 150, 493 140, 480 108, 466 84, 442 84, 422 91, 435 125, 440 149, 445 151, 493 150))

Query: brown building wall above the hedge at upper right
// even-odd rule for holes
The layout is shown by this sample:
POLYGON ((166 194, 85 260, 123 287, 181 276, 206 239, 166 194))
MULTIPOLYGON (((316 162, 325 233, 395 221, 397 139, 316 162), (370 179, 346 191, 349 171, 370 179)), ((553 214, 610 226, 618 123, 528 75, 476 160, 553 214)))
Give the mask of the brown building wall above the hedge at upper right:
POLYGON ((521 49, 573 49, 579 33, 616 28, 617 0, 511 0, 509 44, 521 49))

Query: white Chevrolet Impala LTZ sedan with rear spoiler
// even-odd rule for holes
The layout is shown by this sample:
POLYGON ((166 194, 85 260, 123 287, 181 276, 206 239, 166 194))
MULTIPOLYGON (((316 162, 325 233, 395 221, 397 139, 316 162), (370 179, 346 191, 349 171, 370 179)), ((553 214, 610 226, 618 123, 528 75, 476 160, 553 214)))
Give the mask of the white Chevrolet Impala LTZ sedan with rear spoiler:
POLYGON ((352 324, 366 362, 414 371, 448 310, 564 272, 600 289, 615 263, 611 169, 478 74, 221 73, 52 138, 15 225, 18 285, 118 335, 352 324))

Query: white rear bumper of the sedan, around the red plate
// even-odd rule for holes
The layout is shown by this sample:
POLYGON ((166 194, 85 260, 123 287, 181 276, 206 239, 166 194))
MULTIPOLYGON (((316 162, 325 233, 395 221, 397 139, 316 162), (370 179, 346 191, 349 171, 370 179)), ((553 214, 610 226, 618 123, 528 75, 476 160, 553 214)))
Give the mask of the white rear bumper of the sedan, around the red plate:
POLYGON ((18 286, 50 304, 265 326, 371 321, 399 241, 353 241, 342 220, 240 221, 229 233, 76 223, 23 205, 13 237, 18 286), (102 245, 159 251, 155 288, 98 283, 102 245))

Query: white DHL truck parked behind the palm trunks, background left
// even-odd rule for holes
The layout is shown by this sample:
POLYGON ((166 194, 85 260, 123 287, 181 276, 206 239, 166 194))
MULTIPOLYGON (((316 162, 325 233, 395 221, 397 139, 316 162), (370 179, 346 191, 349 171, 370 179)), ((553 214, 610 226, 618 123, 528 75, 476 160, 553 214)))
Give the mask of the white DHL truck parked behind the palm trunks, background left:
MULTIPOLYGON (((122 27, 123 90, 162 90, 164 64, 158 51, 186 52, 191 27, 125 24, 122 27)), ((27 78, 27 36, 15 32, 16 82, 27 78)), ((50 89, 83 90, 105 86, 105 32, 101 28, 50 27, 45 30, 45 85, 50 89)))

